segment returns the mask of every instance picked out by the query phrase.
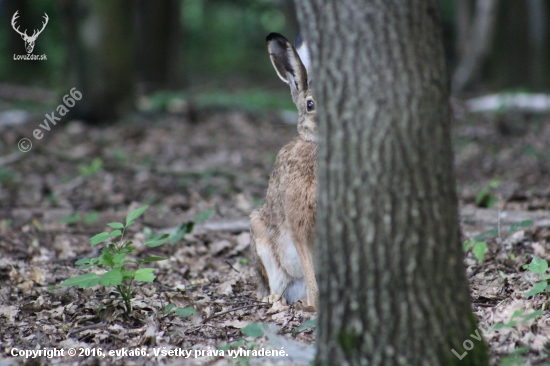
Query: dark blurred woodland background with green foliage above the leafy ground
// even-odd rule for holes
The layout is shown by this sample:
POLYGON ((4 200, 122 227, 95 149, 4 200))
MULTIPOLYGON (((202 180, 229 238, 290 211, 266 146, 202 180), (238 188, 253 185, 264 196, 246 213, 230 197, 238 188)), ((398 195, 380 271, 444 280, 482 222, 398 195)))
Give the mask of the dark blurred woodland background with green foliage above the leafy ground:
MULTIPOLYGON (((456 92, 548 90, 550 1, 440 4, 456 92)), ((0 109, 6 101, 40 101, 48 96, 41 90, 64 94, 75 86, 87 98, 73 117, 91 121, 131 107, 178 109, 190 102, 293 108, 273 94, 286 87, 265 53, 269 32, 292 39, 299 31, 291 0, 0 0, 0 22, 0 109), (47 61, 13 59, 25 53, 10 26, 16 10, 21 29, 39 29, 48 14, 34 51, 47 61), (13 86, 38 89, 29 94, 13 86), (145 95, 153 98, 140 99, 145 95)))

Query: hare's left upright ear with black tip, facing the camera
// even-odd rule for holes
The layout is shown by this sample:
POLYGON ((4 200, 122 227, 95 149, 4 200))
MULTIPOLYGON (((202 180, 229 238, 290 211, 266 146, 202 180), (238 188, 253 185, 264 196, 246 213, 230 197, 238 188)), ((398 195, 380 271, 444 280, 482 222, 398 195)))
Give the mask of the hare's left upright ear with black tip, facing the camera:
POLYGON ((307 71, 290 42, 278 33, 270 33, 266 42, 271 63, 281 80, 293 90, 306 90, 307 71))

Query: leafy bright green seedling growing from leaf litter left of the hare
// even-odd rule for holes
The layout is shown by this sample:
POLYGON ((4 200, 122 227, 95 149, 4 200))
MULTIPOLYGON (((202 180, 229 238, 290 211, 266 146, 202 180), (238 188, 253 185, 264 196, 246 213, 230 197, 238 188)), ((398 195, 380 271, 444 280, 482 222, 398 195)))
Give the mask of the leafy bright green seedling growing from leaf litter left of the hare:
MULTIPOLYGON (((139 268, 142 264, 149 262, 158 262, 165 260, 163 257, 147 257, 139 260, 129 260, 126 256, 131 254, 136 247, 132 241, 125 241, 124 234, 126 229, 134 224, 134 220, 137 219, 148 206, 140 207, 133 210, 126 216, 126 223, 111 222, 107 224, 111 227, 111 232, 102 232, 90 239, 92 247, 99 245, 103 242, 110 241, 109 244, 104 244, 101 254, 96 258, 82 258, 75 262, 79 269, 84 270, 97 266, 99 268, 108 269, 108 271, 101 276, 95 272, 89 272, 84 275, 71 277, 65 280, 62 286, 78 286, 79 288, 90 288, 97 284, 110 287, 114 286, 117 292, 120 294, 126 307, 126 313, 130 315, 132 313, 132 291, 134 281, 153 282, 155 275, 153 271, 155 268, 139 268), (128 265, 132 264, 135 269, 128 269, 128 265)), ((168 234, 157 235, 145 241, 145 245, 148 247, 157 247, 162 245, 168 240, 168 234)))

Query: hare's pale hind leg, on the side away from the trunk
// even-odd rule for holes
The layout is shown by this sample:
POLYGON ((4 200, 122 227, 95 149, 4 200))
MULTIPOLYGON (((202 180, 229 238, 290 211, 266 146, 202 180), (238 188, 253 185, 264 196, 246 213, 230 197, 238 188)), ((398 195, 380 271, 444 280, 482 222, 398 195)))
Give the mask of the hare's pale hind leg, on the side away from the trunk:
POLYGON ((281 267, 280 259, 275 253, 275 243, 269 237, 267 226, 258 211, 250 215, 250 232, 255 267, 263 285, 260 290, 262 296, 269 294, 280 297, 293 279, 281 267))

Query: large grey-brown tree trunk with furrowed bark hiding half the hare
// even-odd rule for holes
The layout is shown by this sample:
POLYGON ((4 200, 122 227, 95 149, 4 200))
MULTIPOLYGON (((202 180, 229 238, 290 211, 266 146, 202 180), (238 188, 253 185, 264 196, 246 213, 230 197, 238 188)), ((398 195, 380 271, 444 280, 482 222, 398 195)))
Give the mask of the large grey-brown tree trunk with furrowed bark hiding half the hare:
POLYGON ((316 362, 487 365, 470 336, 437 1, 296 5, 319 114, 316 362))

